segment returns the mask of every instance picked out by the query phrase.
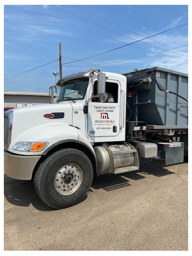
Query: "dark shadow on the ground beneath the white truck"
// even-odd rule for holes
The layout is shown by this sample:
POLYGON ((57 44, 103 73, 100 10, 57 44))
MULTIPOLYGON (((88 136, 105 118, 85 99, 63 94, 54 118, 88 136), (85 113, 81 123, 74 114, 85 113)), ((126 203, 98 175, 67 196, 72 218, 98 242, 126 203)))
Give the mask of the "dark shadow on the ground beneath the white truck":
MULTIPOLYGON (((188 159, 184 161, 188 162, 188 159)), ((152 165, 140 166, 140 170, 124 172, 121 174, 104 174, 99 177, 94 177, 93 183, 89 190, 93 189, 113 190, 124 186, 130 186, 132 180, 138 181, 146 179, 150 175, 162 177, 165 175, 174 174, 168 171, 160 162, 155 162, 152 165)), ((6 200, 15 206, 29 207, 31 204, 40 211, 53 211, 51 207, 45 205, 38 195, 36 195, 33 181, 14 180, 4 174, 4 195, 6 200)), ((86 200, 87 196, 84 198, 86 200)))

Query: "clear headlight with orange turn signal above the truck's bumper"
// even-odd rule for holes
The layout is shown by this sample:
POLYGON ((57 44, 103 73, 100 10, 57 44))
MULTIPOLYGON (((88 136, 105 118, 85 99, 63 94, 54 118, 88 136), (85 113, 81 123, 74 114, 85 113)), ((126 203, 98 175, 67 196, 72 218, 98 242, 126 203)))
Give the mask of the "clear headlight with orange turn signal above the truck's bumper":
POLYGON ((48 142, 18 142, 12 149, 23 152, 36 152, 45 149, 48 146, 48 142))

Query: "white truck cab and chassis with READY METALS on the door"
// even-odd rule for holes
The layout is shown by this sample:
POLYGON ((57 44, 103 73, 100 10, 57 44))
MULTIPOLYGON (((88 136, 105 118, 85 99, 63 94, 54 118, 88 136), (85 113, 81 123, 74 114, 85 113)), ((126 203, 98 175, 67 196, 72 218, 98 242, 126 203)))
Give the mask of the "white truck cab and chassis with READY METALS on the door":
MULTIPOLYGON (((150 111, 156 111, 152 118, 158 121, 160 104, 165 107, 163 101, 156 104, 154 96, 168 94, 152 82, 158 79, 157 71, 150 72, 138 73, 144 77, 135 72, 135 79, 131 73, 100 70, 72 74, 58 81, 57 103, 5 111, 5 173, 14 179, 34 179, 41 200, 60 209, 81 202, 94 175, 136 171, 139 164, 153 158, 166 164, 182 162, 185 143, 181 133, 188 135, 188 125, 180 124, 178 117, 174 125, 147 124, 146 113, 149 117, 150 111), (147 92, 153 95, 148 98, 147 92)), ((178 91, 174 94, 179 104, 178 91)), ((181 97, 181 101, 186 107, 187 99, 181 97)))

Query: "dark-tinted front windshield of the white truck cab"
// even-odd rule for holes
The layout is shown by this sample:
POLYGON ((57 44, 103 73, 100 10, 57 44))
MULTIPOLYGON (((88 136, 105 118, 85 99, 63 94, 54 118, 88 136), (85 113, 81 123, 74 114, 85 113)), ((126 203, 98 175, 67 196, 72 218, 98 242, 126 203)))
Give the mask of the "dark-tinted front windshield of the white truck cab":
POLYGON ((88 77, 64 82, 60 89, 58 101, 84 99, 88 83, 88 77))

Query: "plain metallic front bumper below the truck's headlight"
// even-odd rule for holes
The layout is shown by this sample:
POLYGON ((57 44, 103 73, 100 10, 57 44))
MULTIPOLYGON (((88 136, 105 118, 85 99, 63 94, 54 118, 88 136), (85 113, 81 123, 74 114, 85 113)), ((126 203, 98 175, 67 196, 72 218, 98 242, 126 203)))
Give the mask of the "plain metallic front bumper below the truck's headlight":
POLYGON ((13 155, 4 151, 4 171, 16 180, 31 180, 36 163, 41 156, 13 155))

